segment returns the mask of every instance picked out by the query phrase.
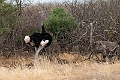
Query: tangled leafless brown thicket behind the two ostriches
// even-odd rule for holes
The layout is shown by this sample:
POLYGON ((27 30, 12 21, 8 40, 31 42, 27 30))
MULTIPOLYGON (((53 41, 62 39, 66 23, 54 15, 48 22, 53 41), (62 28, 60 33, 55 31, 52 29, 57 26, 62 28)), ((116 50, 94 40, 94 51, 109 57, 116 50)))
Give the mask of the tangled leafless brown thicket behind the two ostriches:
POLYGON ((64 37, 70 39, 69 44, 65 42, 66 38, 60 39, 59 42, 53 41, 51 47, 46 51, 47 53, 79 52, 79 54, 82 54, 88 52, 88 47, 90 45, 90 22, 93 22, 94 41, 109 40, 112 42, 119 42, 119 0, 100 0, 97 2, 91 0, 90 2, 84 2, 82 4, 77 1, 73 3, 64 2, 61 4, 48 3, 21 6, 18 11, 20 13, 19 24, 17 24, 17 27, 13 28, 9 34, 3 34, 1 36, 0 51, 4 55, 8 55, 8 53, 14 54, 16 50, 21 52, 23 48, 25 49, 26 44, 23 41, 24 36, 34 32, 40 32, 40 26, 48 19, 50 11, 58 7, 68 11, 75 18, 78 26, 70 32, 62 34, 64 37))

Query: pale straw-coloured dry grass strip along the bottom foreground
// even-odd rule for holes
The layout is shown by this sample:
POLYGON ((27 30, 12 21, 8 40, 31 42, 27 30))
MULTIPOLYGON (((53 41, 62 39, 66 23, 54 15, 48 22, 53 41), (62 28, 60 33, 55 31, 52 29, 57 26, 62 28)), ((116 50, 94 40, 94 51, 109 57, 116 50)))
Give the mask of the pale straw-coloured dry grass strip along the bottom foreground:
MULTIPOLYGON (((11 62, 14 59, 11 59, 11 62)), ((5 59, 4 59, 5 61, 5 59)), ((9 59, 6 59, 10 61, 9 59)), ((28 61, 28 60, 26 60, 28 61)), ((28 68, 25 64, 13 67, 0 67, 0 80, 119 80, 120 63, 79 63, 58 64, 40 59, 37 66, 28 68)), ((31 60, 32 61, 32 60, 31 60)), ((31 63, 31 61, 28 61, 31 63)), ((2 62, 2 61, 1 61, 2 62)), ((5 63, 5 64, 6 64, 5 63)), ((19 63, 19 62, 18 62, 19 63)), ((4 64, 4 65, 5 65, 4 64)))

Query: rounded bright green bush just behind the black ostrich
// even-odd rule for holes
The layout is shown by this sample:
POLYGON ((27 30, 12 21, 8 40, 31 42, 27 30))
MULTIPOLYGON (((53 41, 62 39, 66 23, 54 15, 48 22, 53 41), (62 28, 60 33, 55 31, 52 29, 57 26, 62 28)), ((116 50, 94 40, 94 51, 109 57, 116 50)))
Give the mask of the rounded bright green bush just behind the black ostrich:
POLYGON ((55 38, 62 33, 70 31, 76 26, 74 17, 69 15, 63 8, 56 8, 51 11, 49 19, 45 22, 47 30, 53 33, 55 38))

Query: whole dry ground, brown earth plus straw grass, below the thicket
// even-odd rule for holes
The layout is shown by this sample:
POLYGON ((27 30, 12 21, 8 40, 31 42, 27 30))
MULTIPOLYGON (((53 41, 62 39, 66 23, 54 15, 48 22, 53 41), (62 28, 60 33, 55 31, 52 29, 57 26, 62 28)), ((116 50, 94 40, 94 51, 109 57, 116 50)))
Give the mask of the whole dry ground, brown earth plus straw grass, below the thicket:
POLYGON ((34 66, 34 55, 0 56, 0 80, 120 80, 119 61, 98 63, 84 59, 68 53, 52 57, 52 60, 39 55, 38 64, 34 66))

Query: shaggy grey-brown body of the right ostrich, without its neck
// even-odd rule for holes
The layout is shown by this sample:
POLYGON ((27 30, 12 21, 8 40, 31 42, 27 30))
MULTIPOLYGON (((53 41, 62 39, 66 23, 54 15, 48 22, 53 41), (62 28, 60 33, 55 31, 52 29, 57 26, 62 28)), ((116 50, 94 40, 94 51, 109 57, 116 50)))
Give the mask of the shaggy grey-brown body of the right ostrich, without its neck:
POLYGON ((119 43, 111 41, 96 41, 94 43, 94 52, 101 53, 105 61, 114 56, 119 57, 119 43))

